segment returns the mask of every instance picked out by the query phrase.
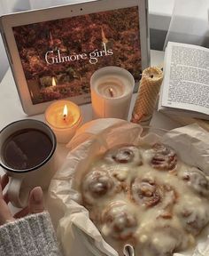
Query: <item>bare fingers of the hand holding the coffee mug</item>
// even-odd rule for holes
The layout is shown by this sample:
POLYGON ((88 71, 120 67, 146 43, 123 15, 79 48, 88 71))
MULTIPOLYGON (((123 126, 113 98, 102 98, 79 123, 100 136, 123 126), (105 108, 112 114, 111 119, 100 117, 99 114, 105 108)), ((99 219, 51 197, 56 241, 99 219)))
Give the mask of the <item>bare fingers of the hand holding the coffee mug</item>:
POLYGON ((30 213, 43 212, 43 190, 40 187, 36 187, 30 191, 27 207, 12 215, 8 206, 8 196, 7 194, 3 194, 3 190, 8 182, 9 178, 7 175, 4 175, 2 178, 0 176, 0 225, 13 221, 16 218, 24 217, 30 213))

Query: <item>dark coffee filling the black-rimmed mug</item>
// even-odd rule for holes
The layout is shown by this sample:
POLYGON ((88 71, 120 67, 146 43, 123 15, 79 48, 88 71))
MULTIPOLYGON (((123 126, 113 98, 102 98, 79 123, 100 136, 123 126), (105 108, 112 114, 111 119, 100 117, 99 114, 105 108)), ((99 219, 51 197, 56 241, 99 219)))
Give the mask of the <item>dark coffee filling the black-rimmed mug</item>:
POLYGON ((31 169, 50 156, 52 142, 37 129, 28 128, 12 133, 3 144, 2 160, 14 170, 31 169))

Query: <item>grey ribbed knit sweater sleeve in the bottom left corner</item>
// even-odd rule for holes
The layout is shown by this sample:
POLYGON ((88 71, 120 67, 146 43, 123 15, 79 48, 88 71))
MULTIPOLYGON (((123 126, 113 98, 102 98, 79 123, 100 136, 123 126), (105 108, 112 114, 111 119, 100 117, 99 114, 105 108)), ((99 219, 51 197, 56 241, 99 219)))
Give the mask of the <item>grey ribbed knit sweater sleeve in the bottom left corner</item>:
POLYGON ((48 212, 0 226, 1 256, 60 256, 48 212))

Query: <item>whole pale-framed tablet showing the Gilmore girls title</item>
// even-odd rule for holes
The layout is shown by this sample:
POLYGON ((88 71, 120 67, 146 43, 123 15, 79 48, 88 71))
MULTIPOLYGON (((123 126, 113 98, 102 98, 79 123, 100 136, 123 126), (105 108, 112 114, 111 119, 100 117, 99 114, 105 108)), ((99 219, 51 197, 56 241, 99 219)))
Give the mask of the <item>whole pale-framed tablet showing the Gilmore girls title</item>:
POLYGON ((90 102, 90 76, 105 66, 126 68, 137 84, 150 62, 146 3, 97 0, 2 16, 27 115, 43 113, 52 100, 90 102))

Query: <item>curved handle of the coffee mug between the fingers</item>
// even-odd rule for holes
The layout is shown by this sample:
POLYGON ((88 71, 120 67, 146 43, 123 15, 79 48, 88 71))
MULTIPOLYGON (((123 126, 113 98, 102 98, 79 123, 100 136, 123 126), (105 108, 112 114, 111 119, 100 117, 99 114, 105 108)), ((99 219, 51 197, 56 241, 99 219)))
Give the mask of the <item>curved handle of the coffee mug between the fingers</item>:
POLYGON ((18 208, 24 208, 27 206, 27 198, 29 195, 29 189, 21 192, 22 179, 17 179, 16 177, 12 177, 7 189, 8 199, 12 203, 13 206, 18 208))

